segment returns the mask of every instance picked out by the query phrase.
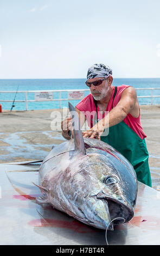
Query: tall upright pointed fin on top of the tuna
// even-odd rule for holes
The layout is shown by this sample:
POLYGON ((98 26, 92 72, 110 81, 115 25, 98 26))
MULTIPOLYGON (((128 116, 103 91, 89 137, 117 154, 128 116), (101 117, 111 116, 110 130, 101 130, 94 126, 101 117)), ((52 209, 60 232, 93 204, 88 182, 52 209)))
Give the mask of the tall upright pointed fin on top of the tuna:
POLYGON ((83 155, 86 155, 84 138, 80 128, 78 113, 75 111, 75 108, 70 102, 68 102, 68 106, 69 106, 69 112, 71 112, 71 116, 72 116, 75 150, 80 151, 83 155))

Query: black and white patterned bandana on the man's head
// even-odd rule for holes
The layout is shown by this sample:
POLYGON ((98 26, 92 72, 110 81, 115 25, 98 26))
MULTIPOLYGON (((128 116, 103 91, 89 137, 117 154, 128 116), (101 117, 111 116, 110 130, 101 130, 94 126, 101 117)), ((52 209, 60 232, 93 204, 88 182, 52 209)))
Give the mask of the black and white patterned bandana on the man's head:
POLYGON ((94 77, 107 77, 112 75, 112 69, 104 64, 94 64, 87 72, 87 80, 94 77))

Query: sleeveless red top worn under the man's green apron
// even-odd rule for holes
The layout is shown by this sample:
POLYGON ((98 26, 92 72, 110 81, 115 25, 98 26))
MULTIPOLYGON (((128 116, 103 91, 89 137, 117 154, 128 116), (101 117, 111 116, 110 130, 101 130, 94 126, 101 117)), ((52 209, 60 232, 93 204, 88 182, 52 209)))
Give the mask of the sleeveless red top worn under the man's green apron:
MULTIPOLYGON (((122 86, 117 87, 117 93, 116 96, 114 97, 113 101, 113 94, 114 94, 114 86, 113 86, 113 92, 110 101, 107 104, 106 111, 111 111, 112 110, 112 102, 113 102, 113 107, 115 107, 118 102, 120 101, 121 94, 123 91, 129 86, 126 86, 123 84, 122 86)), ((85 117, 87 119, 88 126, 91 128, 93 126, 93 120, 94 116, 97 112, 99 112, 99 107, 97 106, 97 112, 96 112, 96 107, 94 104, 93 96, 92 94, 87 95, 83 100, 81 100, 78 105, 76 105, 76 108, 79 109, 82 113, 85 114, 85 117), (91 112, 93 115, 91 115, 91 112)), ((105 115, 98 115, 98 119, 102 119, 105 115)), ((137 135, 144 139, 146 138, 146 135, 143 131, 142 125, 140 123, 140 109, 139 109, 139 117, 133 117, 130 113, 127 114, 126 118, 123 119, 124 123, 128 125, 134 132, 137 133, 137 135)))

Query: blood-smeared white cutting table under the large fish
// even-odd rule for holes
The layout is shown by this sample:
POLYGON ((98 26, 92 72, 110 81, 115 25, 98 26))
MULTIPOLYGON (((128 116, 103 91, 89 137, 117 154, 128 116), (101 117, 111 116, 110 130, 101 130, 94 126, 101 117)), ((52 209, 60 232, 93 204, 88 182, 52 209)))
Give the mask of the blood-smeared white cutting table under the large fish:
MULTIPOLYGON (((0 164, 0 245, 106 245, 105 230, 40 206, 38 165, 0 164), (11 171, 11 172, 10 172, 11 171)), ((135 216, 107 232, 109 245, 160 245, 160 192, 138 182, 135 216)))

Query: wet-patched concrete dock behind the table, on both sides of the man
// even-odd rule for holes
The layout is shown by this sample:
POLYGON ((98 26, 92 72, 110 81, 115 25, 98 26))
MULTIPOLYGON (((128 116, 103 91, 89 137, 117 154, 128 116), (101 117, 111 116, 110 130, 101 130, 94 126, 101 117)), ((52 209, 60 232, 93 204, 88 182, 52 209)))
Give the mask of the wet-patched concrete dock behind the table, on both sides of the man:
MULTIPOLYGON (((62 109, 0 113, 0 163, 43 160, 53 146, 65 140, 60 114, 62 109)), ((150 154, 152 187, 160 191, 160 106, 140 106, 140 114, 150 154)))

